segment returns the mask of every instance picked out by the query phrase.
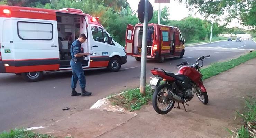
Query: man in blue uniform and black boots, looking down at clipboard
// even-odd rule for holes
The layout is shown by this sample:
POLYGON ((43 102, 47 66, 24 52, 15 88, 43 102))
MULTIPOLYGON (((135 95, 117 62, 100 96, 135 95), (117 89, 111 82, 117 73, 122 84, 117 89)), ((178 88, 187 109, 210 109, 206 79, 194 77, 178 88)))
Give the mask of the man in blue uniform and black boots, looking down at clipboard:
POLYGON ((90 53, 83 53, 81 50, 81 44, 86 41, 87 37, 85 34, 80 34, 77 40, 75 40, 70 48, 71 61, 70 66, 72 67, 72 78, 71 78, 71 96, 90 96, 92 93, 85 90, 85 76, 82 67, 83 56, 88 56, 90 53), (75 91, 76 83, 79 80, 79 85, 81 87, 82 93, 75 91))

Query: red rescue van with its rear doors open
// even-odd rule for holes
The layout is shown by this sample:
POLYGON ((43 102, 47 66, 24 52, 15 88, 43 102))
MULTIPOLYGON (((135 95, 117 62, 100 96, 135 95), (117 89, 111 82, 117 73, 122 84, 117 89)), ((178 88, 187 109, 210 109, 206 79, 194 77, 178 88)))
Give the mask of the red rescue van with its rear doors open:
MULTIPOLYGON (((186 40, 182 38, 179 28, 160 24, 148 24, 147 58, 160 63, 166 58, 183 58, 186 40)), ((126 54, 141 60, 143 24, 127 25, 126 54)))

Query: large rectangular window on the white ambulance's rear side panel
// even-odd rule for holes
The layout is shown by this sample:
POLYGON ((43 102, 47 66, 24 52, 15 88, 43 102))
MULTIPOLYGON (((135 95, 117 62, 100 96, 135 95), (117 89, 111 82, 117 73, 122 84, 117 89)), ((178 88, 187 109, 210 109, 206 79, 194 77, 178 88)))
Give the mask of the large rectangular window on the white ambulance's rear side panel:
POLYGON ((18 36, 22 40, 52 40, 53 24, 39 22, 17 22, 18 36))

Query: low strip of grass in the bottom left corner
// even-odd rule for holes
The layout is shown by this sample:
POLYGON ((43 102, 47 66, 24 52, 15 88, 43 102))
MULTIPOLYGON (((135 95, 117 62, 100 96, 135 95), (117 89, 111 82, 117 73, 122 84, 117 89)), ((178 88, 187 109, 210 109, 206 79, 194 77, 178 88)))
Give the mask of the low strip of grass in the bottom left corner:
POLYGON ((57 137, 47 134, 38 134, 32 131, 25 131, 23 129, 11 129, 10 132, 2 132, 0 138, 72 138, 72 137, 57 137))

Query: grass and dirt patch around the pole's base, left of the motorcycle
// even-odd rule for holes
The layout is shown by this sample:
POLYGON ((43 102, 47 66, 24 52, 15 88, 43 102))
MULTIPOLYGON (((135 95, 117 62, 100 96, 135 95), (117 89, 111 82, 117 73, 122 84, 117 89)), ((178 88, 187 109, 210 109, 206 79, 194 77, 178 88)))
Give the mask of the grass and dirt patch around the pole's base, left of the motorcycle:
POLYGON ((129 89, 120 95, 108 97, 107 99, 113 104, 120 106, 128 111, 139 110, 142 105, 146 105, 152 99, 153 92, 150 86, 146 86, 146 95, 140 94, 139 89, 129 89))

